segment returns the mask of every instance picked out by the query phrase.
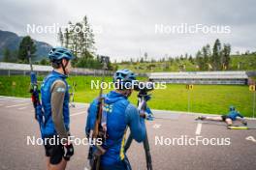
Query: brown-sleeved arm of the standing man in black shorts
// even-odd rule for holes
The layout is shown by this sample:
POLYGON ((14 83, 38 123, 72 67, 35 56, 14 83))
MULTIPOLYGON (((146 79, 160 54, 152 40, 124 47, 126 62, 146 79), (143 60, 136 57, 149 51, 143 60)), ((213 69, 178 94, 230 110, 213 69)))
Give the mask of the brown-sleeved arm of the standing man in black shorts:
POLYGON ((63 120, 63 102, 66 88, 65 83, 61 80, 56 80, 51 85, 51 116, 57 134, 61 139, 68 138, 68 131, 63 120))

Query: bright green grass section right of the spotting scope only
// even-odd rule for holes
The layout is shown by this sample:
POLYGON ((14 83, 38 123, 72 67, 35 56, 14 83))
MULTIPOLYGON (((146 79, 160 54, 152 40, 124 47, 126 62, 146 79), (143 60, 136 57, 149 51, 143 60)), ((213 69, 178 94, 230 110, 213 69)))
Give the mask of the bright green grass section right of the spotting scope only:
POLYGON ((168 85, 166 90, 155 90, 150 104, 157 109, 224 114, 229 105, 237 106, 244 115, 252 115, 252 93, 247 86, 195 85, 192 91, 184 85, 168 85))

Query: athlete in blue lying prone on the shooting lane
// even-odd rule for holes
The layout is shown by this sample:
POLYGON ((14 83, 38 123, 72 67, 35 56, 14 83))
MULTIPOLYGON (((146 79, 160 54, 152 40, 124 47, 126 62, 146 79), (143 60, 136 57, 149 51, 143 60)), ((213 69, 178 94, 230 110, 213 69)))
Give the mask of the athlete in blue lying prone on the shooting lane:
POLYGON ((243 118, 243 116, 240 114, 239 111, 236 110, 236 108, 231 105, 229 108, 229 113, 227 115, 222 115, 222 116, 200 116, 196 120, 207 120, 207 121, 223 121, 227 124, 227 126, 231 127, 233 126, 234 121, 240 121, 244 126, 247 126, 246 120, 243 118))

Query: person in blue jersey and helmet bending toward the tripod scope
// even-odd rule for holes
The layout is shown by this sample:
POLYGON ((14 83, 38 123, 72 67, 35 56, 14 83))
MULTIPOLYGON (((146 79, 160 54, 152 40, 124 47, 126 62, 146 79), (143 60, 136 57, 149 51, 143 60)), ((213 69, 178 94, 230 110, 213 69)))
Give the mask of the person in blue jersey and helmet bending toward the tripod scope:
MULTIPOLYGON (((116 71, 113 75, 115 90, 104 96, 103 112, 107 113, 107 139, 102 145, 106 150, 106 153, 101 156, 100 169, 102 170, 131 169, 124 153, 127 128, 130 128, 131 134, 137 142, 144 141, 144 119, 139 116, 138 109, 128 100, 133 92, 132 82, 134 80, 136 80, 136 76, 132 71, 116 71)), ((98 99, 94 99, 88 108, 85 127, 87 136, 94 129, 97 104, 98 99)))

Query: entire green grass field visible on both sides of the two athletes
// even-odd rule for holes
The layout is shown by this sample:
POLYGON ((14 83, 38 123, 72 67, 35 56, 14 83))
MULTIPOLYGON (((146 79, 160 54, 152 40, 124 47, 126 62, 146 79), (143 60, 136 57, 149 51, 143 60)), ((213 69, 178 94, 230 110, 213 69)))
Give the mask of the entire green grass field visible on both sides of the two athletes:
MULTIPOLYGON (((43 77, 38 77, 42 81, 43 77)), ((68 78, 69 84, 76 82, 75 100, 91 102, 99 95, 99 90, 91 89, 91 80, 100 80, 94 76, 72 76, 68 78)), ((145 79, 145 78, 141 78, 145 79)), ((111 81, 106 77, 106 81, 111 81)), ((29 98, 29 76, 0 76, 0 95, 29 98), (14 83, 15 82, 15 83, 14 83)), ((105 90, 107 93, 111 90, 105 90)), ((137 92, 130 100, 135 104, 137 92)), ((154 109, 187 111, 188 97, 190 96, 191 112, 225 114, 229 105, 235 105, 244 116, 252 116, 253 93, 248 86, 234 85, 194 85, 192 91, 187 91, 185 85, 167 85, 165 90, 154 90, 148 105, 154 109)))

